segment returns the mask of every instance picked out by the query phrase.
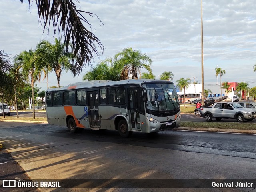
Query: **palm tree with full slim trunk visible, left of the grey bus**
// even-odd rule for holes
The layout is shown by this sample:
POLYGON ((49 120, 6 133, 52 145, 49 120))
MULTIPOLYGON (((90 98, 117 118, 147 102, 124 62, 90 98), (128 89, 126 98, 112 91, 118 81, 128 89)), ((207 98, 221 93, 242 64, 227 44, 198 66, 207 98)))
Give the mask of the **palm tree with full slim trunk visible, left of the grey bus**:
POLYGON ((20 66, 22 68, 22 73, 24 74, 24 76, 26 76, 27 78, 30 77, 31 80, 33 119, 35 119, 34 83, 38 79, 38 77, 35 74, 35 61, 36 54, 32 49, 30 49, 29 51, 24 50, 14 57, 15 65, 20 66))

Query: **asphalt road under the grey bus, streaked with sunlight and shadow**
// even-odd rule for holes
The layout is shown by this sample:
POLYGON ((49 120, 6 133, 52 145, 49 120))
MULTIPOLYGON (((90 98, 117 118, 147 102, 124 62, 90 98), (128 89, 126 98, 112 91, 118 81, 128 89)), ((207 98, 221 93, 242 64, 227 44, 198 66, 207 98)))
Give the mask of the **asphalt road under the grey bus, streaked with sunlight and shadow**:
MULTIPOLYGON (((256 177, 256 136, 250 134, 167 130, 121 138, 115 131, 84 130, 71 134, 65 127, 14 122, 0 122, 0 133, 2 144, 32 180, 256 177)), ((7 162, 5 166, 11 165, 7 162)), ((187 191, 249 190, 256 191, 252 188, 187 191)), ((166 190, 116 188, 112 191, 166 190)))

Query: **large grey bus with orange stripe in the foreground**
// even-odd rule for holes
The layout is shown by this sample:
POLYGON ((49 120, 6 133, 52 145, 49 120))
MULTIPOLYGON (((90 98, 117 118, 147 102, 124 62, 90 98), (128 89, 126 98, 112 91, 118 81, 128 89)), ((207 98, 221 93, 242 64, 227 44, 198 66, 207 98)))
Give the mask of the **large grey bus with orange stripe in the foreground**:
POLYGON ((180 126, 180 105, 174 84, 166 80, 88 81, 46 90, 49 124, 152 133, 180 126))

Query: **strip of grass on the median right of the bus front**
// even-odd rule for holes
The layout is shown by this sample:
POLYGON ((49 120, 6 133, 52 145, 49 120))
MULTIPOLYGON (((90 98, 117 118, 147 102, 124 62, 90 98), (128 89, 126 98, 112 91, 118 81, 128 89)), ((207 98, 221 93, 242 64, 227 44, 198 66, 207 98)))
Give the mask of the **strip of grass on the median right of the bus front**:
MULTIPOLYGON (((255 120, 253 120, 255 121, 255 120)), ((182 121, 180 127, 196 127, 196 128, 218 128, 218 129, 244 129, 244 130, 256 130, 256 124, 246 122, 191 122, 182 121)))

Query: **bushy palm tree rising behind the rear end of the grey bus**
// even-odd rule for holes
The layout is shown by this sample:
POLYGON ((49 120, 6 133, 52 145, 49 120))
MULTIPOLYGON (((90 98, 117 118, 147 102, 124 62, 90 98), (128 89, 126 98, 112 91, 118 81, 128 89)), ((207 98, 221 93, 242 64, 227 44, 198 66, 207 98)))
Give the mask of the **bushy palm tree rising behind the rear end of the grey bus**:
POLYGON ((65 46, 66 45, 64 43, 61 43, 61 39, 58 40, 55 38, 55 44, 51 44, 47 40, 42 40, 38 43, 36 49, 37 73, 40 73, 43 69, 46 69, 46 73, 54 70, 57 76, 58 87, 60 87, 62 69, 66 69, 66 71, 68 71, 72 68, 70 63, 72 53, 68 52, 65 46))

